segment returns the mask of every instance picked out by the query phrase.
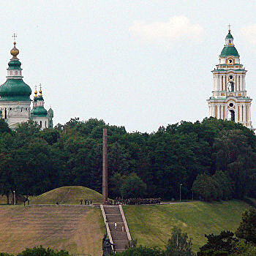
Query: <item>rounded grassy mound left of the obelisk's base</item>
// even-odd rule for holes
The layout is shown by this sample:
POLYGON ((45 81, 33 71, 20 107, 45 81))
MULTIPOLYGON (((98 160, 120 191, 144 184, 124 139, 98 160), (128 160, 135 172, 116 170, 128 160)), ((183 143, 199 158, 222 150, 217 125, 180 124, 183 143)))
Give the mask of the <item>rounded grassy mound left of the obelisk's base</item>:
MULTIPOLYGON (((50 190, 37 197, 31 197, 31 204, 80 204, 80 200, 102 203, 102 195, 87 187, 68 186, 50 190)), ((83 201, 84 203, 84 201, 83 201)))

